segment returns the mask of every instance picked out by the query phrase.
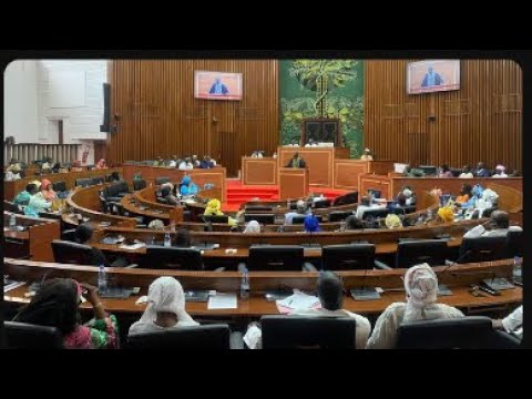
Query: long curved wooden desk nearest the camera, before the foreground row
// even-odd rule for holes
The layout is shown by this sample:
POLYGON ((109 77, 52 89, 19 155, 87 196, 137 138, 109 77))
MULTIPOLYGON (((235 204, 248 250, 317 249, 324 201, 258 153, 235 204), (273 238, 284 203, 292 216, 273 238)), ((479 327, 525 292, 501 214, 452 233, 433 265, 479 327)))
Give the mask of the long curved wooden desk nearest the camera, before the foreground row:
MULTIPOLYGON (((464 264, 459 267, 434 267, 439 283, 446 284, 451 290, 451 296, 441 296, 439 303, 459 307, 466 314, 485 311, 488 309, 505 308, 522 301, 522 289, 515 287, 501 291, 500 296, 473 296, 469 289, 471 284, 478 284, 488 276, 510 278, 512 275, 513 260, 487 262, 480 264, 464 264)), ((180 280, 184 289, 216 289, 218 291, 237 291, 241 284, 241 274, 237 272, 174 272, 174 270, 147 270, 127 268, 108 268, 109 276, 117 285, 125 287, 141 287, 140 295, 145 295, 149 285, 158 276, 173 276, 180 280)), ((346 297, 344 308, 362 315, 380 314, 386 307, 395 301, 405 301, 402 279, 406 269, 396 270, 368 270, 368 272, 338 272, 342 277, 345 288, 360 286, 378 286, 385 289, 378 300, 354 300, 346 297)), ((39 263, 30 260, 6 259, 6 273, 13 279, 37 282, 43 276, 70 277, 79 282, 94 283, 98 279, 98 267, 61 265, 39 263)), ((238 299, 236 309, 209 310, 205 303, 186 303, 186 311, 192 315, 203 316, 228 316, 228 317, 258 317, 263 315, 278 314, 275 303, 264 299, 264 291, 279 288, 298 288, 305 290, 316 289, 316 280, 319 273, 291 273, 291 272, 250 272, 249 283, 252 296, 249 299, 238 299)), ((24 297, 29 284, 4 294, 4 300, 11 305, 28 303, 24 297)), ((108 311, 115 314, 140 315, 145 305, 135 305, 140 295, 127 299, 106 299, 102 303, 108 311)), ((83 308, 90 306, 84 304, 83 308)))

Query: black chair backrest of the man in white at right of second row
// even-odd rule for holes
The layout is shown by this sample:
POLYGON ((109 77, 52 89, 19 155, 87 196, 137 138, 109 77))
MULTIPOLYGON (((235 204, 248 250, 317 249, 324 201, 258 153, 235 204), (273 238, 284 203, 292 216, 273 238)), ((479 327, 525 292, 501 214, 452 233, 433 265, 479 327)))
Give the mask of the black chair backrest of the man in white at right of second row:
POLYGON ((508 257, 507 237, 462 238, 460 262, 490 262, 508 257))

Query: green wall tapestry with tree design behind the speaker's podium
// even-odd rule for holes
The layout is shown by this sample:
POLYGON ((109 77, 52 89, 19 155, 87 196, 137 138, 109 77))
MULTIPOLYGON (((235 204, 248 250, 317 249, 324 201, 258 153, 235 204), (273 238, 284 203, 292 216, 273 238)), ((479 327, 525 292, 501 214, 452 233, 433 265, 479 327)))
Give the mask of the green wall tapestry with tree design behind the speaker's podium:
POLYGON ((280 143, 300 135, 305 117, 337 117, 351 157, 362 152, 364 61, 282 60, 280 143))

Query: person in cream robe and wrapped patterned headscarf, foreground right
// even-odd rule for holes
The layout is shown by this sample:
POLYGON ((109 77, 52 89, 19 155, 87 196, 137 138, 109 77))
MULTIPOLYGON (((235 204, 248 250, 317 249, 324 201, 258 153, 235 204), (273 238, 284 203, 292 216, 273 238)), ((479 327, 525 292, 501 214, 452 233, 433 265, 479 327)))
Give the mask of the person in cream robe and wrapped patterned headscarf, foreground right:
POLYGON ((375 324, 366 349, 390 349, 396 346, 397 329, 402 321, 434 320, 463 317, 457 308, 436 304, 438 277, 428 264, 410 267, 405 274, 407 303, 386 308, 375 324))

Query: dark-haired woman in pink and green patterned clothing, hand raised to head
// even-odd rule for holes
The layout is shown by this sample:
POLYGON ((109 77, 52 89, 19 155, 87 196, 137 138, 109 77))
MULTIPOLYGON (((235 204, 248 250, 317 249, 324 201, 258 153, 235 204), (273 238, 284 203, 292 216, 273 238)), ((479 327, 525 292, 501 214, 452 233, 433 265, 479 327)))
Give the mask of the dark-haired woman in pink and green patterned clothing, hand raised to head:
POLYGON ((119 346, 116 317, 105 313, 98 288, 71 278, 44 282, 13 321, 58 328, 66 349, 117 349, 119 346), (79 309, 83 289, 94 311, 88 324, 81 324, 79 309))

